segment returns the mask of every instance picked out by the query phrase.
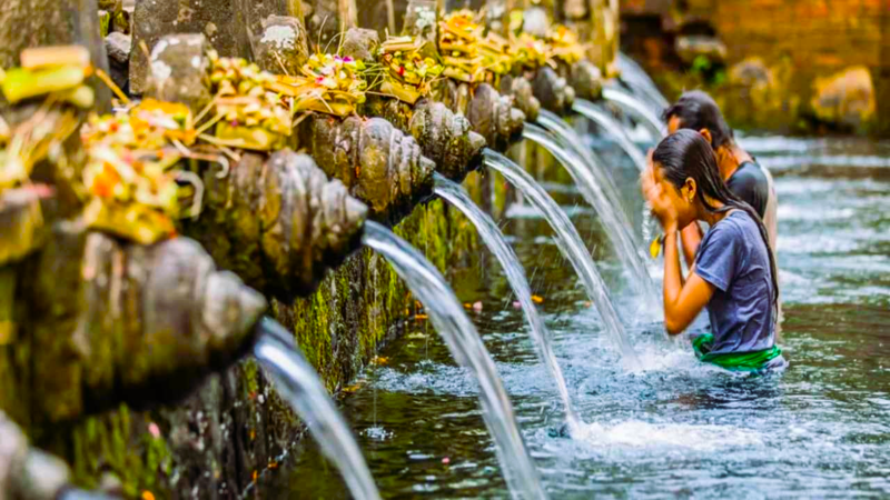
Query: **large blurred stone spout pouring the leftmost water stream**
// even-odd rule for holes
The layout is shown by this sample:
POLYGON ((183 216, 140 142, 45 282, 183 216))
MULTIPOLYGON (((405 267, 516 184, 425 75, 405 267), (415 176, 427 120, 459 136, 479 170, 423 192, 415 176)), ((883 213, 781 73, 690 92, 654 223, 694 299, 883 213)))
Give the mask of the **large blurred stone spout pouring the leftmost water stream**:
POLYGON ((249 349, 266 309, 194 240, 125 243, 77 221, 56 222, 2 274, 3 316, 30 366, 0 407, 27 402, 34 423, 176 401, 249 349))

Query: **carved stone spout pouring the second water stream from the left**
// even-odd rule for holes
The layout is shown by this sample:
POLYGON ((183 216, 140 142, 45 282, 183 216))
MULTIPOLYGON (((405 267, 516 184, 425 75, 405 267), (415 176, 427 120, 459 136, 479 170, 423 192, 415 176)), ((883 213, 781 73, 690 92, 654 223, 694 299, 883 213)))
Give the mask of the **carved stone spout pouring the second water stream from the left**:
POLYGON ((244 153, 204 174, 205 213, 189 234, 247 283, 281 300, 310 293, 359 246, 367 208, 307 154, 244 153))

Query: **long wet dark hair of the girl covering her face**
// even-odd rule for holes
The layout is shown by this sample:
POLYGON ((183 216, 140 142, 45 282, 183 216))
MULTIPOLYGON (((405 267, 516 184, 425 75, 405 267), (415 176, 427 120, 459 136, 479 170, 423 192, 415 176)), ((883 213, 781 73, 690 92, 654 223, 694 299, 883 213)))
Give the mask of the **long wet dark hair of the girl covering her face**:
POLYGON ((756 222, 760 236, 763 238, 763 244, 767 246, 767 254, 770 258, 773 319, 778 321, 779 274, 775 269, 775 257, 770 247, 767 227, 756 210, 742 201, 726 187, 723 177, 720 176, 720 169, 716 167, 714 151, 704 137, 694 130, 678 130, 659 143, 652 153, 652 162, 662 169, 662 177, 674 184, 676 189, 683 187, 686 179, 694 179, 698 186, 695 196, 709 212, 723 213, 733 209, 742 210, 756 222), (714 207, 709 200, 719 201, 723 206, 714 207))

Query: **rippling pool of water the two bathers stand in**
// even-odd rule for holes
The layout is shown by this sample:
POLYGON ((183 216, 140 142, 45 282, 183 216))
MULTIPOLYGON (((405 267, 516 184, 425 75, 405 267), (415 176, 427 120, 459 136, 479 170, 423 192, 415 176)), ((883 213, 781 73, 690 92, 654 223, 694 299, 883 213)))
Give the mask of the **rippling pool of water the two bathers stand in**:
MULTIPOLYGON (((543 300, 585 422, 583 436, 570 439, 504 278, 491 267, 451 277, 553 498, 890 496, 890 147, 785 138, 743 146, 773 171, 780 198, 784 373, 728 374, 700 364, 688 339, 666 341, 657 324, 636 322, 644 314, 595 214, 570 187, 550 186, 589 239, 646 366, 619 367, 546 223, 528 210, 511 212, 504 232, 543 300)), ((603 156, 626 198, 639 198, 633 167, 615 151, 603 156)), ((413 321, 379 356, 342 408, 383 496, 507 498, 475 383, 432 327, 413 321)), ((310 440, 290 462, 267 491, 347 497, 310 440)))

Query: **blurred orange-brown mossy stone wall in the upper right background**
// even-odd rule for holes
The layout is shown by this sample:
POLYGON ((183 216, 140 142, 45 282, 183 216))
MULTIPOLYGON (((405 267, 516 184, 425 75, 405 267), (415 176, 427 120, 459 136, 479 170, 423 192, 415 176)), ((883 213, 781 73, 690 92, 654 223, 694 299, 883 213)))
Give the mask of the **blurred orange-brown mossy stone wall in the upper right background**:
MULTIPOLYGON (((625 49, 656 77, 675 62, 679 37, 722 42, 725 78, 708 90, 738 124, 890 132, 890 0, 624 0, 621 8, 625 49)), ((669 93, 691 83, 660 79, 669 93)))

